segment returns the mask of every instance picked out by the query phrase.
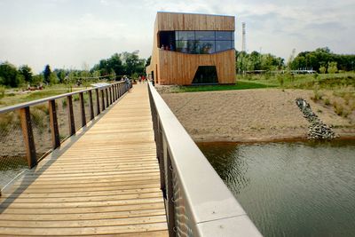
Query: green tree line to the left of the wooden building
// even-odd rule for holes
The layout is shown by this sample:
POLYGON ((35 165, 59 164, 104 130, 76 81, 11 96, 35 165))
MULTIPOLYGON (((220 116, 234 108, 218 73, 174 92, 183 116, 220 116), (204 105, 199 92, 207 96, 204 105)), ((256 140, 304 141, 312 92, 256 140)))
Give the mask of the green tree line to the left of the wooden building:
POLYGON ((140 59, 138 51, 114 53, 108 59, 100 59, 99 63, 93 67, 83 64, 81 70, 78 69, 51 69, 46 65, 38 75, 35 75, 31 67, 23 65, 15 67, 10 62, 0 63, 0 85, 5 87, 19 87, 38 85, 40 83, 90 83, 92 80, 121 78, 127 75, 137 78, 138 75, 145 75, 146 62, 150 59, 140 59))

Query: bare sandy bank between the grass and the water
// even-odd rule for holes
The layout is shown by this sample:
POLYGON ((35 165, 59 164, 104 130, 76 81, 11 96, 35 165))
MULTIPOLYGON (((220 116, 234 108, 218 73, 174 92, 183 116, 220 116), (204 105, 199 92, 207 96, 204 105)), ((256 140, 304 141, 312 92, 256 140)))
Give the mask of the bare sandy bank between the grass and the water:
POLYGON ((266 141, 306 138, 309 123, 295 99, 306 99, 313 112, 341 138, 355 137, 355 112, 348 118, 314 103, 312 91, 256 89, 161 93, 195 141, 266 141))

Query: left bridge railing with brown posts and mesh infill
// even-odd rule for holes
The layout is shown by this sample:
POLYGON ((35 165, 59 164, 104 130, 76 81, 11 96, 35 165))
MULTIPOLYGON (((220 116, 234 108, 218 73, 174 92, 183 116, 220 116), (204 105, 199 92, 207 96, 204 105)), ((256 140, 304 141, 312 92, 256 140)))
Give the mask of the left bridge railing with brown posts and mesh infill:
POLYGON ((111 83, 0 108, 0 190, 18 175, 16 170, 36 166, 127 89, 124 82, 111 83))

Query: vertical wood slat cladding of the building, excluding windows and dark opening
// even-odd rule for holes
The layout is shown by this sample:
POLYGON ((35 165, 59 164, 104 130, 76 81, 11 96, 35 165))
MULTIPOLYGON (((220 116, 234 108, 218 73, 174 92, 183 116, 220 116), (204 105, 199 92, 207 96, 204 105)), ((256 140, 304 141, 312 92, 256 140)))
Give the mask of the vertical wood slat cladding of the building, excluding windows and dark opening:
POLYGON ((233 16, 157 12, 154 23, 154 44, 151 63, 146 74, 154 83, 188 85, 193 82, 199 66, 216 66, 218 83, 235 83, 235 50, 211 54, 189 54, 159 48, 160 31, 235 30, 233 16))

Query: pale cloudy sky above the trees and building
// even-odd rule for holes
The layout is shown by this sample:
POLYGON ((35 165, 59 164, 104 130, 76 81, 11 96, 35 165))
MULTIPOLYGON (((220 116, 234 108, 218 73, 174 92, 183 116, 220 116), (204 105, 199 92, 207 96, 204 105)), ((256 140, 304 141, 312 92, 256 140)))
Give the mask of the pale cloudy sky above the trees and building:
POLYGON ((328 46, 355 53, 354 0, 0 0, 0 61, 28 64, 35 73, 51 68, 82 69, 114 52, 150 56, 156 12, 195 12, 236 17, 247 50, 288 59, 291 51, 328 46))

